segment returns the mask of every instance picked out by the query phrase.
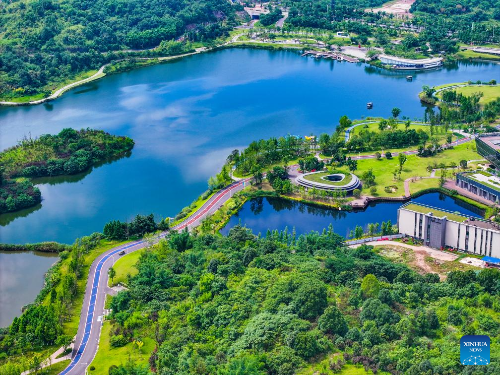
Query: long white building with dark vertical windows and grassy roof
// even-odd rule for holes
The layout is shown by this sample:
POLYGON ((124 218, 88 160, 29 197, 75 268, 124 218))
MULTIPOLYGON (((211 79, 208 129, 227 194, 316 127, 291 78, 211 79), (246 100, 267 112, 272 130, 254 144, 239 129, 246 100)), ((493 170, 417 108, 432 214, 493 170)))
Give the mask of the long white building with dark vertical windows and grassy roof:
POLYGON ((408 202, 397 210, 397 228, 429 247, 500 258, 500 225, 492 221, 408 202))

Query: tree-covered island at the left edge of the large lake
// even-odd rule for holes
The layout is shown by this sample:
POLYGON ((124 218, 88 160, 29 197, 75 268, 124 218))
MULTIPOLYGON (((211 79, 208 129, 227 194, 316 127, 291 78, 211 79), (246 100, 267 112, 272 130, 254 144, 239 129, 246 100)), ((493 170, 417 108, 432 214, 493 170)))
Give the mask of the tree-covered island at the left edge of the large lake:
POLYGON ((79 173, 130 150, 133 144, 127 136, 90 128, 65 128, 38 138, 24 136, 16 146, 0 152, 0 213, 41 201, 40 190, 30 178, 79 173))

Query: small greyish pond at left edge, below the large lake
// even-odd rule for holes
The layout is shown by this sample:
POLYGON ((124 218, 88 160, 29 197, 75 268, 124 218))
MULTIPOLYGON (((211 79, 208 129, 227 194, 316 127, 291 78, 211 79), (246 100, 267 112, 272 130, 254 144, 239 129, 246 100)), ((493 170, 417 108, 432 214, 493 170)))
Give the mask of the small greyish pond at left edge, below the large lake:
POLYGON ((0 327, 10 325, 21 307, 34 301, 57 258, 53 252, 0 251, 0 327))

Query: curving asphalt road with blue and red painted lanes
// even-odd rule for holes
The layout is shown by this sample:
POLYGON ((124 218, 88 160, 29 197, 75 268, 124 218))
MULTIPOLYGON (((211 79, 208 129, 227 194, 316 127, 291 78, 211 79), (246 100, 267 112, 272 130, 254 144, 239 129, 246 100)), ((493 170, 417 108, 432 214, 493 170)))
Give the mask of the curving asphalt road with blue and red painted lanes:
MULTIPOLYGON (((229 199, 234 192, 241 190, 245 183, 251 178, 233 182, 217 191, 208 199, 194 214, 184 221, 173 226, 170 230, 188 229, 199 225, 200 221, 207 215, 213 213, 229 199)), ((156 241, 165 237, 166 232, 160 233, 156 241)), ((113 290, 107 286, 107 270, 120 257, 118 252, 123 250, 126 254, 145 247, 144 240, 131 241, 120 246, 113 247, 100 254, 90 265, 87 285, 83 298, 80 322, 75 339, 75 350, 69 365, 60 372, 61 375, 82 375, 90 364, 98 349, 101 322, 97 321, 102 316, 106 294, 112 294, 113 290)))

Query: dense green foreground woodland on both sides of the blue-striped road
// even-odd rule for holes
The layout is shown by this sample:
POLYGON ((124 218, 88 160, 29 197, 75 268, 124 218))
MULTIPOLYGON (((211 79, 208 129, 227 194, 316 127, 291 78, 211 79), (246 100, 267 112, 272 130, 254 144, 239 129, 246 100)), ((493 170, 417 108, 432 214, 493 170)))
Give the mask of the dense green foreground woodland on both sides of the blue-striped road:
MULTIPOLYGON (((84 248, 79 241, 65 251, 70 274, 80 272, 84 248)), ((227 236, 170 233, 146 249, 135 268, 128 290, 110 302, 109 345, 147 339, 154 349, 148 364, 132 356, 95 373, 326 374, 361 366, 380 373, 475 374, 459 363, 463 334, 489 335, 491 364, 480 373, 500 371, 496 269, 454 270, 440 281, 372 246, 345 247, 331 225, 298 236, 286 229, 255 235, 240 226, 227 236)), ((66 277, 62 282, 73 290, 74 278, 66 277)), ((47 288, 52 303, 33 305, 3 332, 3 352, 20 354, 61 336, 67 309, 59 290, 47 288), (42 330, 50 334, 37 333, 42 330)))

